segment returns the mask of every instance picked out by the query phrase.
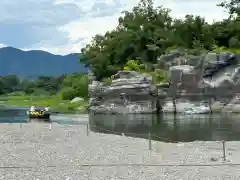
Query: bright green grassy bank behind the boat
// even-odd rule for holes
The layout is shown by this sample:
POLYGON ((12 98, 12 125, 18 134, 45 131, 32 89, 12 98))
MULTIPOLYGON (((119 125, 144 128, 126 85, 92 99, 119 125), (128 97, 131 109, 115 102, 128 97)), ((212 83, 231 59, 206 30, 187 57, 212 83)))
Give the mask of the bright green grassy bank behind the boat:
POLYGON ((27 96, 27 95, 4 95, 0 96, 0 105, 4 106, 50 106, 52 111, 62 113, 85 113, 87 101, 71 103, 62 100, 59 96, 27 96))

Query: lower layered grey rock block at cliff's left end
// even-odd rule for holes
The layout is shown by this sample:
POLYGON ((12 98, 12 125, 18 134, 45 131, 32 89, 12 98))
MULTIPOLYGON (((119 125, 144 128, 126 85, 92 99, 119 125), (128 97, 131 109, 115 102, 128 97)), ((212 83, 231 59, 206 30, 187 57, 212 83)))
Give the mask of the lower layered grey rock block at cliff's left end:
POLYGON ((134 71, 119 71, 110 85, 92 81, 89 84, 89 110, 93 113, 154 113, 156 98, 152 95, 152 77, 134 71))

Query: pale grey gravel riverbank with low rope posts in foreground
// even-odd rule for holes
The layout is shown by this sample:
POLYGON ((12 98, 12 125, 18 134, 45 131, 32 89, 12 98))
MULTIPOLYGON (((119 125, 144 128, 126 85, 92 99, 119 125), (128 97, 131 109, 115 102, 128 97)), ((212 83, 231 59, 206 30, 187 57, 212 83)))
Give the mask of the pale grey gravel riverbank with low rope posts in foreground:
MULTIPOLYGON (((145 139, 93 132, 87 136, 84 125, 49 127, 1 124, 0 179, 240 179, 240 165, 222 166, 221 142, 152 142, 149 151, 145 139), (212 166, 174 166, 179 164, 212 166)), ((240 143, 227 142, 226 147, 225 164, 240 163, 240 143)))

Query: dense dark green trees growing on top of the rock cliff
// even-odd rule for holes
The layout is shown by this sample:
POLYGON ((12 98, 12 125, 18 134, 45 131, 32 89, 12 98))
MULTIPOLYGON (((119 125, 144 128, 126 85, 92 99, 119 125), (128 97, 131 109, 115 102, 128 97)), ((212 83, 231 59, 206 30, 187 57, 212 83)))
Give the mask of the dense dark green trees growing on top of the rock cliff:
POLYGON ((183 48, 195 53, 219 49, 237 51, 240 48, 239 4, 239 0, 219 4, 228 10, 229 18, 209 24, 200 16, 174 19, 169 9, 155 8, 152 0, 141 0, 131 12, 123 12, 116 29, 96 35, 82 49, 80 61, 101 80, 124 67, 140 68, 132 60, 156 64, 157 59, 171 49, 183 48))

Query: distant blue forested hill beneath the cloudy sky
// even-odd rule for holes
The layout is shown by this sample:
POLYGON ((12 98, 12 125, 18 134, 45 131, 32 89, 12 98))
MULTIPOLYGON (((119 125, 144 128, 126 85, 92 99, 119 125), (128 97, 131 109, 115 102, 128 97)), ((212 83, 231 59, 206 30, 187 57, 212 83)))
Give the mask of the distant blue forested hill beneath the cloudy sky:
POLYGON ((46 51, 22 51, 13 47, 0 48, 0 76, 16 74, 19 77, 40 75, 57 76, 87 72, 79 63, 80 54, 54 55, 46 51))

